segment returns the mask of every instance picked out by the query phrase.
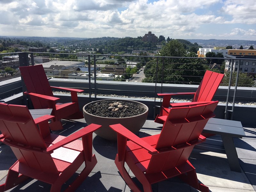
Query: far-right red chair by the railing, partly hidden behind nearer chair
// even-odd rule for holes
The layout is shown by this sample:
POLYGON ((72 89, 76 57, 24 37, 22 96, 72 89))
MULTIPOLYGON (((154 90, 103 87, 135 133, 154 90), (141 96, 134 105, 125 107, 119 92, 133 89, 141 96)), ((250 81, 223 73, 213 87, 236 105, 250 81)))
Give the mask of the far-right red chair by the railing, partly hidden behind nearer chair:
POLYGON ((194 98, 192 102, 190 102, 190 105, 203 104, 211 101, 223 77, 224 77, 224 74, 207 70, 196 92, 157 93, 158 96, 163 97, 163 102, 161 106, 160 115, 156 116, 155 122, 163 124, 163 121, 161 121, 158 117, 167 115, 171 107, 182 107, 182 106, 188 105, 188 103, 170 103, 172 96, 194 95, 194 98))

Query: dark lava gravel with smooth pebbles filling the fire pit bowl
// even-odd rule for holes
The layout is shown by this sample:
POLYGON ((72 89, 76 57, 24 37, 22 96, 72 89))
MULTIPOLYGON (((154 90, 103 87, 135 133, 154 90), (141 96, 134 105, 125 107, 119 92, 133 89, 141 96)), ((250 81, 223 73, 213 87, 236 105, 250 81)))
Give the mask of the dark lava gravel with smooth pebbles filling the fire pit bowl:
POLYGON ((86 112, 101 117, 122 118, 131 117, 144 113, 145 108, 127 101, 103 100, 88 105, 86 112))

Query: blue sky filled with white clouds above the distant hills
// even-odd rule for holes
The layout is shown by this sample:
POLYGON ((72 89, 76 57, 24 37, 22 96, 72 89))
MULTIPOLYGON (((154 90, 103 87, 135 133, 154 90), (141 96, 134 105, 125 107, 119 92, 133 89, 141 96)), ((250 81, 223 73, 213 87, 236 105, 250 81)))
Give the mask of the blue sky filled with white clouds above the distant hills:
POLYGON ((0 0, 0 36, 256 40, 256 0, 0 0))

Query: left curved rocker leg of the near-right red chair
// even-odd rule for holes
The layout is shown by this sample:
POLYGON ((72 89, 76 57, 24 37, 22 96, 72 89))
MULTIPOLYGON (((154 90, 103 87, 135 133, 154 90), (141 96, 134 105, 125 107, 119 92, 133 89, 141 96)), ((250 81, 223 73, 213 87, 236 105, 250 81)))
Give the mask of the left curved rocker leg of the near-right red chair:
MULTIPOLYGON (((123 161, 118 161, 118 155, 116 155, 115 164, 116 164, 116 167, 117 167, 118 171, 120 172, 121 176, 123 177, 125 183, 129 186, 129 188, 133 192, 140 192, 140 189, 134 183, 134 181, 130 177, 129 173, 126 171, 126 169, 124 167, 124 162, 123 161)), ((143 188, 144 188, 144 186, 143 186, 143 188)), ((151 189, 151 191, 152 191, 152 189, 151 189)), ((147 192, 150 192, 150 191, 147 191, 147 192)))

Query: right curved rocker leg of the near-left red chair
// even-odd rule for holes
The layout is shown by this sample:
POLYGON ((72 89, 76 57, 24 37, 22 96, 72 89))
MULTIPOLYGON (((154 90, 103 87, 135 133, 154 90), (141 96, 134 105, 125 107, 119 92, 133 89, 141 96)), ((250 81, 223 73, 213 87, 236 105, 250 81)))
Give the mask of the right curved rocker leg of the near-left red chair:
POLYGON ((81 183, 86 179, 86 177, 88 177, 90 172, 92 172, 92 169, 95 167, 96 164, 97 164, 97 159, 96 159, 96 156, 93 154, 92 161, 91 162, 88 162, 88 161, 85 162, 85 168, 77 176, 76 180, 74 180, 73 183, 65 190, 65 192, 75 191, 81 185, 81 183))

